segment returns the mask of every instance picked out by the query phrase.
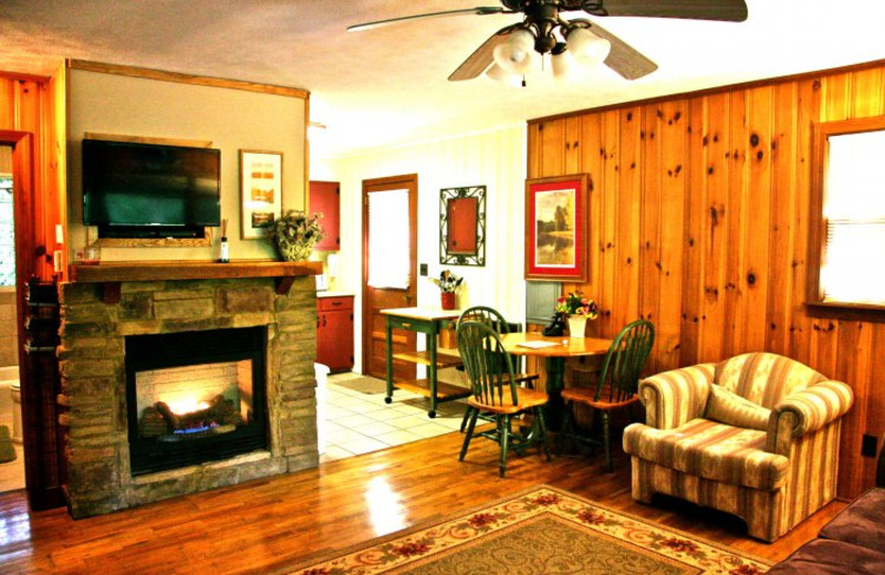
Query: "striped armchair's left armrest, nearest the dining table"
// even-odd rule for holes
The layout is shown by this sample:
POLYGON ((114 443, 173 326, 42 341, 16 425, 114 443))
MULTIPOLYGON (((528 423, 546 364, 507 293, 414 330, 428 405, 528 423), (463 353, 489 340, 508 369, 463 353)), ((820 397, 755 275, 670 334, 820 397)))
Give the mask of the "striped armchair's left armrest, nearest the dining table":
POLYGON ((671 369, 639 381, 639 400, 645 422, 657 429, 673 429, 701 417, 710 395, 714 364, 671 369))

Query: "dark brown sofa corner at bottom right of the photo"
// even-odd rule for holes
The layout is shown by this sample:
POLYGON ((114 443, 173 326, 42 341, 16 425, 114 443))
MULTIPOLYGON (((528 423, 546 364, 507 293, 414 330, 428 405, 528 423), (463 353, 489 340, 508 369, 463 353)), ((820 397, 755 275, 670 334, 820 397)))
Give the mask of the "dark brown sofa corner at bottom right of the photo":
MULTIPOLYGON (((885 440, 885 438, 883 438, 885 440)), ((769 575, 881 575, 885 573, 885 449, 876 487, 851 502, 814 539, 769 575)))

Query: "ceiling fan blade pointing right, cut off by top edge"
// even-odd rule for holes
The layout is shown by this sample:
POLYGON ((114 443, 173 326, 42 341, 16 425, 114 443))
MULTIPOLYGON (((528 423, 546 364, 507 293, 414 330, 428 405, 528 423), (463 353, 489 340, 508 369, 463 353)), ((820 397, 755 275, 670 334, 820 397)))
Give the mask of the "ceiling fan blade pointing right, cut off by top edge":
POLYGON ((653 18, 687 18, 693 20, 747 20, 745 0, 602 0, 584 2, 584 10, 593 15, 638 15, 653 18), (592 4, 598 3, 594 9, 592 4))

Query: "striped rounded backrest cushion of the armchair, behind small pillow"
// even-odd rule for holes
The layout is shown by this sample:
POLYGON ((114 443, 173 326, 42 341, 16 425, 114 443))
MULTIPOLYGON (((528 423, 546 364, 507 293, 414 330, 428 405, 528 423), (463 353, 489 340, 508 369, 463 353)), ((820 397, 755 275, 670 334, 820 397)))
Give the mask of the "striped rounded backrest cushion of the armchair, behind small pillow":
POLYGON ((737 355, 716 364, 714 374, 715 384, 769 409, 824 380, 822 374, 795 359, 768 353, 737 355))

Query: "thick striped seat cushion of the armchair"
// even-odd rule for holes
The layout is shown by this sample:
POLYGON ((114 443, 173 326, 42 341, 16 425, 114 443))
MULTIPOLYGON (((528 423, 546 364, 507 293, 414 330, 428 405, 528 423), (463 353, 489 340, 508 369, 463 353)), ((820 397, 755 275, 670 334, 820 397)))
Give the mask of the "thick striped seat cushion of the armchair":
POLYGON ((787 482, 789 460, 766 452, 766 432, 709 419, 670 430, 634 424, 624 430, 624 450, 690 475, 774 491, 787 482))

